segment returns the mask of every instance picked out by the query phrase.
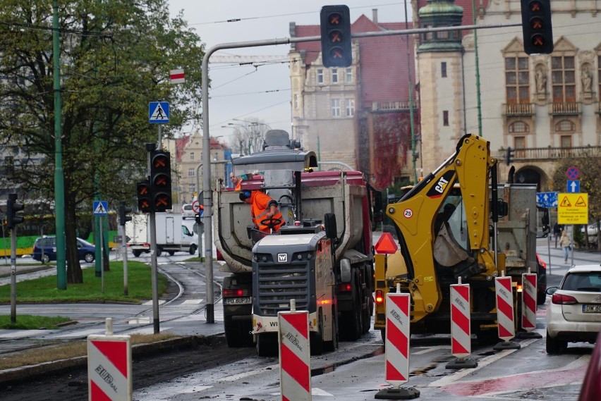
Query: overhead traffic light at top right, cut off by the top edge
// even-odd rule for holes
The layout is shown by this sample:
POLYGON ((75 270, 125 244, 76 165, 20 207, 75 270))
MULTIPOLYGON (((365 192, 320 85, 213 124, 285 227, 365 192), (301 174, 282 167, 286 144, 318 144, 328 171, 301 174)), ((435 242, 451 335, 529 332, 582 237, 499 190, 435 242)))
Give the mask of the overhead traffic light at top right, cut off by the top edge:
POLYGON ((551 54, 553 30, 551 0, 521 0, 522 30, 526 54, 551 54))

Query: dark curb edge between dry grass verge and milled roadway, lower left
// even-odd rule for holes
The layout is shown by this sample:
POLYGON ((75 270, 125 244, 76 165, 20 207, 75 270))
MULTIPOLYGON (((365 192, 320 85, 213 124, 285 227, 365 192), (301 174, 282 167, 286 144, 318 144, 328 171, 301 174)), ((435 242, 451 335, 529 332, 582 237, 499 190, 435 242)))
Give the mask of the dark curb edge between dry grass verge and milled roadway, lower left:
MULTIPOLYGON (((137 344, 131 347, 132 357, 145 357, 164 350, 191 348, 198 344, 206 343, 211 336, 191 335, 186 337, 169 338, 157 343, 137 344)), ((0 384, 29 381, 32 378, 46 374, 61 374, 71 369, 87 366, 87 356, 59 359, 57 361, 43 362, 37 365, 19 366, 17 368, 0 371, 0 384)))

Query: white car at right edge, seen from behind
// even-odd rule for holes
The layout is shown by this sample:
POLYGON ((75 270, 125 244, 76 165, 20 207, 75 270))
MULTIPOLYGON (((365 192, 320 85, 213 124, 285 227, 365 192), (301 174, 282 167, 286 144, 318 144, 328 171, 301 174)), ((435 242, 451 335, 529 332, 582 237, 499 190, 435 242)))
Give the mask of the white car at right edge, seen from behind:
POLYGON ((547 354, 559 354, 568 343, 595 343, 601 330, 601 266, 574 266, 552 295, 547 309, 547 354))

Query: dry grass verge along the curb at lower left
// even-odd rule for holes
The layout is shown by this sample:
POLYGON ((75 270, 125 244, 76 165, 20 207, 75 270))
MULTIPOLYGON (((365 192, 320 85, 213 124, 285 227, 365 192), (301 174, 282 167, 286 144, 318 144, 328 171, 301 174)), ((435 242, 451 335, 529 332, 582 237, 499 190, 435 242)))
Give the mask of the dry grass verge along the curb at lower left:
MULTIPOLYGON (((157 343, 174 337, 178 336, 171 333, 133 334, 131 335, 130 343, 131 345, 157 343)), ((39 347, 35 350, 28 350, 8 357, 2 357, 0 358, 0 370, 42 364, 58 359, 83 357, 85 355, 87 355, 87 341, 71 341, 66 344, 39 347)))

